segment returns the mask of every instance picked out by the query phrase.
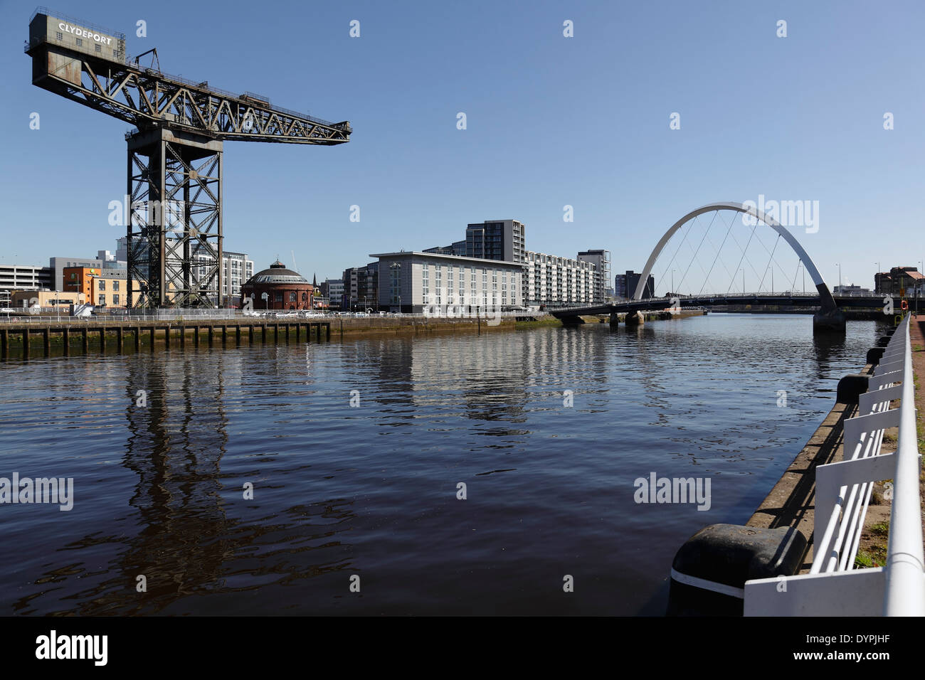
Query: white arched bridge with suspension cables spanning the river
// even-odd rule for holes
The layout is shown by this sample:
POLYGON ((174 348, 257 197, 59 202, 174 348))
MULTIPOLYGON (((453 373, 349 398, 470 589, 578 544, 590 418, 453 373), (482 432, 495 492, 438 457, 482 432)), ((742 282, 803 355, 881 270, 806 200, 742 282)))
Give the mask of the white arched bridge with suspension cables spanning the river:
POLYGON ((877 306, 878 301, 879 299, 874 298, 840 298, 836 302, 812 258, 799 241, 796 241, 794 235, 775 217, 754 206, 725 202, 706 204, 692 210, 664 233, 649 255, 632 297, 626 302, 559 308, 550 311, 550 314, 563 321, 577 321, 580 315, 610 314, 611 323, 616 320, 616 315, 625 314, 626 323, 632 325, 642 320, 642 312, 668 307, 730 304, 797 305, 816 310, 813 316, 814 328, 844 331, 845 315, 839 309, 840 304, 870 307, 877 306), (704 221, 698 224, 700 216, 711 216, 709 223, 704 221), (741 218, 741 225, 737 224, 737 218, 741 218), (745 229, 742 229, 743 226, 745 229), (758 233, 762 226, 764 231, 771 229, 776 233, 777 238, 772 243, 766 242, 767 238, 762 238, 758 233), (718 227, 717 231, 713 231, 714 227, 718 227), (789 276, 790 271, 784 269, 778 261, 778 246, 781 241, 789 246, 781 249, 781 253, 790 253, 791 258, 796 258, 792 278, 789 276), (685 253, 682 253, 683 251, 685 253), (708 255, 706 264, 703 261, 705 253, 708 255), (714 253, 711 260, 709 253, 714 253), (733 254, 731 262, 735 263, 732 267, 729 266, 731 262, 726 261, 730 253, 733 254), (670 254, 671 257, 662 269, 659 282, 664 286, 671 280, 672 287, 663 296, 656 297, 650 292, 648 297, 644 297, 648 291, 649 275, 653 273, 663 254, 670 254), (767 262, 763 259, 764 254, 769 255, 767 262), (694 269, 695 264, 699 272, 694 269), (674 266, 677 268, 672 268, 674 266), (775 291, 775 271, 778 272, 778 276, 783 273, 783 280, 787 282, 783 291, 775 291), (798 292, 797 277, 801 273, 804 291, 798 292), (750 274, 753 281, 758 279, 757 291, 746 291, 746 274, 750 274), (805 291, 806 275, 815 287, 815 292, 805 291), (738 286, 740 280, 741 288, 738 286))

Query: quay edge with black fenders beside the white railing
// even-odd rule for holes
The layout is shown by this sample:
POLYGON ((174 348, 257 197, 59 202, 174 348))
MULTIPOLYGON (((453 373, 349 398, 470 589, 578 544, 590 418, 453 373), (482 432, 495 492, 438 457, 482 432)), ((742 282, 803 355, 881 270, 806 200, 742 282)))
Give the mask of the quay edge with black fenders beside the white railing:
MULTIPOLYGON (((867 391, 884 340, 870 349, 859 373, 839 381, 832 410, 746 524, 709 525, 678 550, 672 563, 669 615, 741 615, 747 580, 808 573, 813 560, 816 467, 844 460, 845 420, 857 415, 857 397, 867 391)), ((925 367, 925 356, 921 363, 925 367)), ((895 428, 887 430, 883 440, 885 448, 891 441, 895 444, 895 428)), ((882 491, 882 486, 874 485, 861 550, 868 545, 865 535, 870 539, 877 533, 871 527, 880 527, 889 518, 882 491)), ((882 542, 885 546, 885 535, 882 542)))

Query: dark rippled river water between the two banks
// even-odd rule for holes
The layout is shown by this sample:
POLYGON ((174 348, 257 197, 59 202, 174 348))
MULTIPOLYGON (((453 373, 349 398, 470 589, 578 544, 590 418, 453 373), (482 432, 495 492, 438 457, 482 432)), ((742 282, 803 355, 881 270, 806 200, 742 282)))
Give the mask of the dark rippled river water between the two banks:
POLYGON ((674 552, 748 519, 879 335, 709 315, 0 363, 0 476, 73 477, 68 512, 0 504, 0 614, 661 615, 674 552), (709 479, 709 510, 635 502, 651 473, 709 479))

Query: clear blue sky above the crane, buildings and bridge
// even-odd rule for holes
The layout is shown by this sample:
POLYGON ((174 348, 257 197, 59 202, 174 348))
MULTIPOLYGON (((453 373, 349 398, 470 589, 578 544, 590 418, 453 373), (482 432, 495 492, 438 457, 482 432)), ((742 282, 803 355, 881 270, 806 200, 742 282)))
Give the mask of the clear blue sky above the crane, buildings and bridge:
MULTIPOLYGON (((31 85, 22 44, 34 9, 0 3, 4 264, 115 250, 124 235, 107 205, 124 192, 130 126, 31 85)), ((351 121, 351 142, 334 147, 225 145, 225 246, 257 269, 277 254, 291 264, 294 251, 309 278, 339 277, 368 253, 446 245, 468 222, 515 218, 530 250, 607 248, 614 271, 638 271, 679 217, 759 194, 820 202, 818 232, 794 231, 830 283, 838 262, 845 282, 870 287, 875 262, 925 258, 919 2, 52 9, 125 32, 129 55, 156 47, 167 73, 351 121)))

